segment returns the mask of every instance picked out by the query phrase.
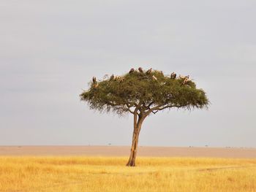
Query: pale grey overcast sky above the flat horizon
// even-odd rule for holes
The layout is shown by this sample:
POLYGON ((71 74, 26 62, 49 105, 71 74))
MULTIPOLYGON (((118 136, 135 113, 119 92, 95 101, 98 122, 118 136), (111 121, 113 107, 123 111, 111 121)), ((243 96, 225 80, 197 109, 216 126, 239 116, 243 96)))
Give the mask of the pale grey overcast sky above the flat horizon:
POLYGON ((0 1, 0 145, 131 145, 132 116, 89 110, 91 77, 192 77, 208 110, 149 116, 139 145, 256 147, 256 1, 0 1))

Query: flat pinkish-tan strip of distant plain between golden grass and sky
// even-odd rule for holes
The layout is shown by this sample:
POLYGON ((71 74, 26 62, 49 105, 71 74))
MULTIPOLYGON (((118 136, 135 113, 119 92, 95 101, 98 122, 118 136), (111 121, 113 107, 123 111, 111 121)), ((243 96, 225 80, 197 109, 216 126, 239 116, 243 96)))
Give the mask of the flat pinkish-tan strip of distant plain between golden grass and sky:
MULTIPOLYGON (((0 146, 0 155, 128 156, 129 146, 0 146)), ((138 156, 256 158, 256 148, 139 147, 138 156)))

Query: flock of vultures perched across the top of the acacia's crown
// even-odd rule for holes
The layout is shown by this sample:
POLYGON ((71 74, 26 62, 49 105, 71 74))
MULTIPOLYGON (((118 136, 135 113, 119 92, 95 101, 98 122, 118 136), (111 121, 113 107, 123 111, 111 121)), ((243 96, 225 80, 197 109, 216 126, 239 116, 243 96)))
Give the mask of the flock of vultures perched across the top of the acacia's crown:
MULTIPOLYGON (((136 72, 136 71, 137 71, 137 70, 135 70, 135 69, 132 68, 132 69, 129 70, 129 74, 132 74, 133 72, 136 72)), ((143 69, 142 69, 141 67, 138 68, 138 71, 139 71, 140 73, 144 74, 144 71, 143 71, 143 69)), ((149 75, 149 74, 151 74, 151 72, 152 72, 152 68, 148 69, 148 70, 145 72, 145 74, 149 75)), ((161 74, 164 75, 162 71, 161 71, 161 74)), ((153 79, 154 81, 157 81, 157 77, 155 77, 154 75, 152 75, 151 77, 152 77, 152 79, 153 79)), ((172 72, 172 73, 170 74, 170 79, 175 80, 176 77, 177 77, 177 74, 176 74, 175 72, 172 72)), ((180 75, 178 76, 178 79, 183 80, 182 85, 187 85, 187 82, 190 81, 190 80, 189 80, 189 75, 187 75, 187 76, 182 76, 182 75, 180 74, 180 75)), ((114 76, 114 75, 112 74, 112 75, 110 76, 109 80, 110 80, 110 81, 112 81, 112 80, 117 80, 117 81, 119 81, 119 82, 122 82, 122 81, 124 80, 124 77, 121 77, 121 76, 114 76)), ((96 80, 96 77, 92 77, 92 82, 93 82, 94 88, 97 88, 97 86, 98 86, 99 84, 98 84, 98 82, 97 82, 97 80, 96 80)))

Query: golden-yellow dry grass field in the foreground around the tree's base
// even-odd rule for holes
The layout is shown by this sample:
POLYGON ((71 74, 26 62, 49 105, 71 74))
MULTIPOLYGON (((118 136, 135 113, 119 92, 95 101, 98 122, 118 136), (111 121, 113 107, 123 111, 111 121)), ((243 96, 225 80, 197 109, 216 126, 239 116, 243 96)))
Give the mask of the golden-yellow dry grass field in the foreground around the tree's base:
POLYGON ((0 157, 0 191, 256 191, 256 159, 0 157))

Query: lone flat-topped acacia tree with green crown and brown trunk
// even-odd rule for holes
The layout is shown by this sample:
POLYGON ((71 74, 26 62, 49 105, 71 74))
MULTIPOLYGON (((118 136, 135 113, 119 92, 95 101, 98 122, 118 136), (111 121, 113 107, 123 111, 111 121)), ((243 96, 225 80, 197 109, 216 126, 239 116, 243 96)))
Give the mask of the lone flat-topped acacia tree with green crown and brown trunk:
POLYGON ((131 71, 122 76, 113 75, 97 81, 94 77, 89 90, 80 94, 90 109, 133 115, 132 147, 127 166, 135 166, 138 139, 143 121, 150 114, 171 108, 202 109, 208 106, 206 93, 197 89, 188 77, 167 76, 148 70, 131 71))

